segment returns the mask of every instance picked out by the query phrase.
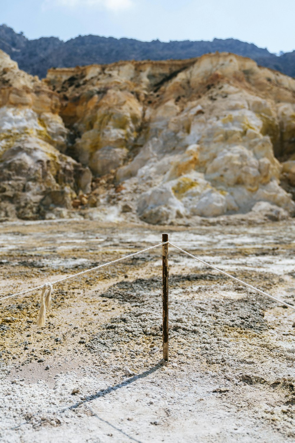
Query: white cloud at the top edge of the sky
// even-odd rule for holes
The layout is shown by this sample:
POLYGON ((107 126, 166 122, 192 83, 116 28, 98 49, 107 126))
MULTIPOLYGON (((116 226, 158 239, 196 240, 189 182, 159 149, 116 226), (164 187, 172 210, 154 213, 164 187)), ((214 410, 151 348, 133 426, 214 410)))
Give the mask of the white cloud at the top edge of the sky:
POLYGON ((45 0, 43 9, 51 9, 54 6, 66 8, 105 8, 113 12, 123 11, 133 6, 133 0, 45 0))

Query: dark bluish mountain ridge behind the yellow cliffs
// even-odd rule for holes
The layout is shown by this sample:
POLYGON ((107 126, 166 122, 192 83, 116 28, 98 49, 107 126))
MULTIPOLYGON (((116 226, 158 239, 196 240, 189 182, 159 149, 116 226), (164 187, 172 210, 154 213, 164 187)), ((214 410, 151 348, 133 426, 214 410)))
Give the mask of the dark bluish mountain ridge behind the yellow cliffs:
POLYGON ((79 35, 67 42, 57 37, 29 40, 23 33, 17 34, 11 27, 3 24, 0 25, 0 49, 18 62, 20 69, 40 78, 46 77, 46 72, 51 67, 105 64, 119 60, 185 59, 215 51, 250 57, 262 66, 295 76, 295 51, 276 56, 267 49, 237 39, 165 43, 159 40, 142 42, 135 39, 79 35))

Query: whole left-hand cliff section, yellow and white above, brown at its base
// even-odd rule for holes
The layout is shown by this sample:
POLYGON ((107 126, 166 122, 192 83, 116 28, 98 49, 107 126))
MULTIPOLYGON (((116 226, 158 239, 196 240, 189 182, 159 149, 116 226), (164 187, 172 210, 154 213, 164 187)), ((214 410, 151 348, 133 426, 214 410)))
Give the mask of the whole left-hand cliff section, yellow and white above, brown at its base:
POLYGON ((59 98, 2 51, 0 104, 0 220, 72 210, 76 193, 91 190, 92 174, 61 153, 68 131, 59 98))

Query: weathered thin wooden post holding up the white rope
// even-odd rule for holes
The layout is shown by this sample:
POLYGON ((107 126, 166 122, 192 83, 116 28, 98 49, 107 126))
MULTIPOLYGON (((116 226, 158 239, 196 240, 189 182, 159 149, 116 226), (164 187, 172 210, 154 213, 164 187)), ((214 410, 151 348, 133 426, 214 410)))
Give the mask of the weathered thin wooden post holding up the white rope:
MULTIPOLYGON (((168 241, 168 234, 162 234, 162 242, 168 241)), ((168 243, 162 245, 162 269, 163 269, 163 358, 169 361, 169 324, 168 324, 168 243)))

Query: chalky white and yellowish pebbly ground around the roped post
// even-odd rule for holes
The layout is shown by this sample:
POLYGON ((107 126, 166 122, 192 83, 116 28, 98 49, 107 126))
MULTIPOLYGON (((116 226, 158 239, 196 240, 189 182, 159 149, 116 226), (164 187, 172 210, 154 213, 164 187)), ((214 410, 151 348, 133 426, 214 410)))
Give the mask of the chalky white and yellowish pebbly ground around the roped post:
MULTIPOLYGON (((294 221, 157 228, 0 225, 1 296, 169 240, 295 303, 294 221)), ((161 365, 161 248, 0 302, 1 443, 294 442, 295 312, 169 247, 170 362, 161 365)))

